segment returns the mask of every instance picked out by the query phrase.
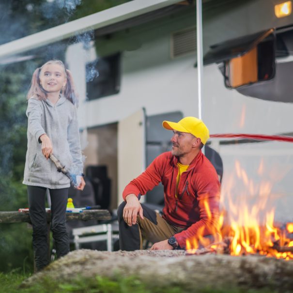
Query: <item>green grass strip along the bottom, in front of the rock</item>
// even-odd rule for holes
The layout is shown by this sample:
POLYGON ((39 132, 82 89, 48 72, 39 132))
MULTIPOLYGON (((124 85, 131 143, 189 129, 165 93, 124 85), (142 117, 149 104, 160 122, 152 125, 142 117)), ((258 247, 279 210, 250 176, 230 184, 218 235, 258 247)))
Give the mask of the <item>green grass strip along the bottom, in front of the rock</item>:
POLYGON ((30 277, 23 275, 19 270, 8 274, 0 273, 0 293, 272 293, 268 290, 217 290, 206 288, 205 290, 182 290, 179 286, 150 288, 135 277, 118 278, 110 280, 97 276, 90 280, 76 278, 71 283, 57 283, 46 279, 40 284, 34 284, 30 288, 19 288, 23 280, 30 277))

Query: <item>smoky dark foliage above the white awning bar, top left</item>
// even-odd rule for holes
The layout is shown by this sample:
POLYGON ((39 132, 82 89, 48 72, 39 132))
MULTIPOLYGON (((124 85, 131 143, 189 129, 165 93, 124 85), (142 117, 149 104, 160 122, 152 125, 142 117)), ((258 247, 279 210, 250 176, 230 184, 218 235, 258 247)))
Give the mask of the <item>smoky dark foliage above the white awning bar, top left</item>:
POLYGON ((130 0, 1 0, 0 44, 130 0))

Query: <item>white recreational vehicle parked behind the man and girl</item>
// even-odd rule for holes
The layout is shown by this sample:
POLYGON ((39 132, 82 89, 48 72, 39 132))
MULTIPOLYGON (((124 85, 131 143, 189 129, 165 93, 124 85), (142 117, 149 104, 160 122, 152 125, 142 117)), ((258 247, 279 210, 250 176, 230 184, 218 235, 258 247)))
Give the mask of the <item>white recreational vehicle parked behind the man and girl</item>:
MULTIPOLYGON (((277 221, 288 221, 292 143, 225 137, 292 136, 293 16, 276 16, 280 2, 203 3, 202 119, 212 135, 223 134, 208 144, 216 151, 211 155, 222 177, 223 205, 229 209, 231 198, 245 208, 245 198, 252 209, 262 201, 263 209, 275 209, 277 221), (253 51, 257 65, 249 56, 235 65, 253 51), (234 72, 243 66, 250 76, 233 81, 232 65, 234 72)), ((67 50, 70 68, 76 75, 83 72, 87 100, 79 117, 88 141, 86 162, 108 166, 113 207, 122 200, 124 185, 170 149, 171 134, 161 122, 198 115, 195 24, 195 5, 185 1, 98 29, 91 46, 67 50), (76 62, 77 54, 83 62, 76 62)), ((146 201, 159 204, 162 198, 158 186, 146 201)))

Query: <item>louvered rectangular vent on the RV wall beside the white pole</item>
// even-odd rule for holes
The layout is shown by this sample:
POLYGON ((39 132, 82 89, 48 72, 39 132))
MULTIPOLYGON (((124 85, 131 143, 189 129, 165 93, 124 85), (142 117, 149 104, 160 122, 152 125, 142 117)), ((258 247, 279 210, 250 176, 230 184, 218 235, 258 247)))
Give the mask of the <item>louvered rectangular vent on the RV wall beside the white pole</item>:
POLYGON ((171 35, 171 58, 196 52, 196 28, 173 32, 171 35))

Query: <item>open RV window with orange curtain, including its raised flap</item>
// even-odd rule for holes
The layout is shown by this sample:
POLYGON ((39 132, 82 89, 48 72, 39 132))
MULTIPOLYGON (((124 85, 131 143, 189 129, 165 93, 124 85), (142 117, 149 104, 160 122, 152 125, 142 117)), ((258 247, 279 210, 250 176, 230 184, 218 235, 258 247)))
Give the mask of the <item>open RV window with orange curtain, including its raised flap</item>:
POLYGON ((283 45, 280 40, 276 45, 274 29, 260 31, 211 46, 203 63, 224 64, 221 72, 226 87, 237 88, 274 78, 276 46, 285 56, 283 45))

